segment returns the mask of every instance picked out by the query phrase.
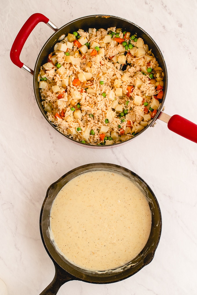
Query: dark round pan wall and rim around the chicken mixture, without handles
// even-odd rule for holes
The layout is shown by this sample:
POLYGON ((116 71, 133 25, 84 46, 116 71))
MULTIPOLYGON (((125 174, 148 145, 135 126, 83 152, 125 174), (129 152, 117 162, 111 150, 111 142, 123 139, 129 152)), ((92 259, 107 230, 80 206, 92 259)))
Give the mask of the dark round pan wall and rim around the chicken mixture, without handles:
MULTIPOLYGON (((163 95, 162 104, 159 107, 158 112, 157 112, 155 118, 152 120, 151 124, 148 125, 140 133, 135 135, 135 137, 137 137, 142 132, 144 132, 149 126, 152 126, 154 124, 156 118, 159 115, 159 112, 163 108, 163 104, 164 104, 164 100, 165 100, 166 92, 167 92, 167 69, 166 69, 166 64, 165 64, 163 55, 162 55, 159 47, 154 42, 154 40, 143 29, 141 29, 140 27, 138 27, 134 23, 132 23, 130 21, 127 21, 125 19, 122 19, 120 17, 104 16, 104 15, 92 15, 92 16, 82 17, 80 19, 76 19, 76 20, 64 25, 63 27, 61 27, 57 32, 55 32, 47 40, 47 42, 45 43, 45 45, 41 49, 41 52, 38 55, 37 61, 35 63, 35 68, 34 68, 33 87, 34 87, 34 94, 35 94, 37 104, 38 104, 43 116, 45 117, 45 119, 51 124, 51 126, 53 128, 56 129, 56 127, 48 120, 48 118, 46 116, 46 112, 44 111, 43 106, 42 106, 41 95, 40 95, 40 91, 39 91, 39 88, 38 88, 38 74, 39 74, 39 71, 40 71, 40 67, 41 67, 41 65, 46 63, 48 55, 51 53, 51 51, 53 51, 54 45, 58 42, 58 38, 61 35, 63 35, 63 34, 67 35, 68 33, 73 32, 73 31, 77 31, 79 29, 83 29, 83 30, 88 31, 88 29, 90 27, 91 28, 96 28, 96 29, 100 29, 100 28, 107 29, 109 27, 117 27, 117 28, 122 28, 123 31, 126 30, 128 32, 131 32, 131 34, 136 33, 138 37, 143 38, 145 43, 148 44, 149 50, 152 49, 152 52, 154 53, 156 59, 159 61, 159 65, 163 69, 163 72, 164 72, 164 95, 163 95)), ((61 132, 59 132, 59 133, 61 133, 61 132)), ((66 136, 66 135, 64 135, 64 136, 66 136)), ((132 140, 135 137, 132 137, 129 140, 132 140)), ((67 138, 73 140, 70 137, 67 137, 67 138)), ((76 140, 73 140, 73 141, 77 142, 76 140)), ((125 142, 123 142, 123 143, 125 143, 125 142)), ((80 145, 82 145, 82 144, 80 143, 80 145)), ((116 144, 113 144, 113 146, 120 145, 120 144, 121 143, 116 143, 116 144)), ((88 145, 88 146, 94 146, 95 147, 95 145, 90 145, 90 144, 83 144, 83 145, 88 145)), ((98 147, 98 148, 100 148, 100 147, 98 147)), ((109 148, 109 146, 104 146, 103 145, 102 148, 109 148)))

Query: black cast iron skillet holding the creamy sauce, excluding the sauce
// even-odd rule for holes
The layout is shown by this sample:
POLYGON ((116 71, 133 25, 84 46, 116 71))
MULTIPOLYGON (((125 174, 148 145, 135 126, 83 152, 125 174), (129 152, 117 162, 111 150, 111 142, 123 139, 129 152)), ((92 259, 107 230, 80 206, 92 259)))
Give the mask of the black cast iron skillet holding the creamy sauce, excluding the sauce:
POLYGON ((64 283, 71 280, 85 281, 88 283, 106 284, 121 281, 125 278, 133 276, 135 273, 141 270, 141 268, 150 263, 153 259, 155 250, 157 248, 161 236, 161 229, 162 217, 157 199, 151 188, 148 186, 148 184, 134 172, 122 166, 109 163, 92 163, 80 166, 69 171, 49 186, 41 209, 41 238, 47 253, 49 254, 51 260, 54 263, 55 276, 53 281, 49 284, 48 287, 46 287, 46 289, 40 295, 57 294, 59 288, 64 283), (55 250, 49 237, 50 210, 52 203, 58 192, 72 178, 85 172, 98 170, 107 170, 112 172, 114 171, 128 177, 132 181, 135 181, 135 183, 137 183, 141 187, 142 191, 146 195, 152 214, 151 232, 145 247, 135 259, 133 259, 130 263, 122 267, 122 269, 120 269, 117 272, 108 271, 105 273, 94 273, 83 270, 75 265, 72 265, 55 250))

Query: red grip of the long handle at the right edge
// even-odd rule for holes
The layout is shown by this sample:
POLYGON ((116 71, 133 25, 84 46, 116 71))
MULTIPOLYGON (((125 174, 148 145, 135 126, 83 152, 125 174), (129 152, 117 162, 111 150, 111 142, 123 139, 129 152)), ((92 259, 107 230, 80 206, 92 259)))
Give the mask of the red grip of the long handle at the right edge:
POLYGON ((197 143, 197 125, 179 115, 169 119, 168 129, 197 143))

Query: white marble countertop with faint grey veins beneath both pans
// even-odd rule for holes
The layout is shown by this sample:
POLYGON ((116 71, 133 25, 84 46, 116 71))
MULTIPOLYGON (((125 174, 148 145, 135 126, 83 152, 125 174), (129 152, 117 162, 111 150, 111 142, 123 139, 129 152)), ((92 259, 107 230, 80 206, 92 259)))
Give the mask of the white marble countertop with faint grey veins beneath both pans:
MULTIPOLYGON (((91 14, 111 14, 143 28, 160 47, 168 70, 165 112, 197 124, 197 4, 192 0, 22 1, 1 4, 0 278, 8 294, 40 294, 54 277, 43 246, 39 215, 46 190, 64 173, 86 163, 122 165, 152 188, 162 212, 162 235, 153 261, 118 283, 65 283, 58 295, 197 293, 197 145, 157 120, 141 136, 108 149, 84 148, 56 132, 35 101, 32 77, 9 58, 10 48, 31 14, 57 27, 91 14)), ((21 54, 30 68, 52 35, 41 23, 21 54)), ((0 285, 1 287, 1 285, 0 285)), ((2 289, 3 290, 3 289, 2 289)), ((1 292, 3 292, 0 290, 1 292)))

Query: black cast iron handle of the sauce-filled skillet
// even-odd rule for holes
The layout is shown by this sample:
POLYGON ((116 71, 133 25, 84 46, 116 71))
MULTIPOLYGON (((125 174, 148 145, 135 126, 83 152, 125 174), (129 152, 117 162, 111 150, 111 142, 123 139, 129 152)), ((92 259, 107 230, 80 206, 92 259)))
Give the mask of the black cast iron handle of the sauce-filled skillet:
POLYGON ((55 266, 55 276, 53 281, 47 286, 40 295, 56 295, 59 288, 66 282, 76 280, 74 276, 64 271, 58 265, 54 263, 55 266))

